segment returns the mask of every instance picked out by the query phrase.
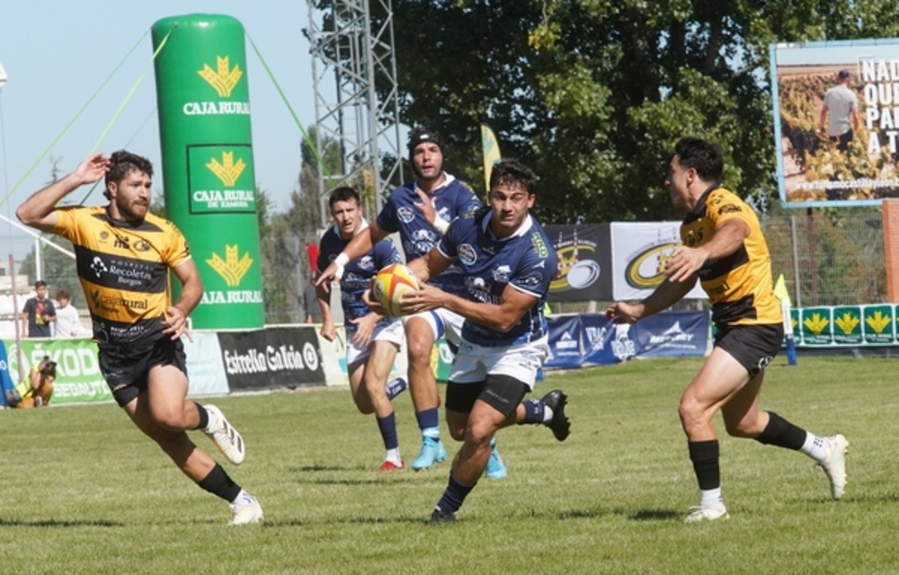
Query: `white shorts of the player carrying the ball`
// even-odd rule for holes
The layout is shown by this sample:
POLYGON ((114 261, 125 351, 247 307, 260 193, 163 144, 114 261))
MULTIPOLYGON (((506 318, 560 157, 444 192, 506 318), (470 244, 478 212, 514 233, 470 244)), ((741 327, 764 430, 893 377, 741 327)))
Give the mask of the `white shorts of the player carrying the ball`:
POLYGON ((449 381, 474 384, 485 381, 488 375, 510 376, 534 391, 537 372, 549 357, 546 336, 537 341, 510 347, 485 348, 462 341, 456 359, 449 368, 449 381))

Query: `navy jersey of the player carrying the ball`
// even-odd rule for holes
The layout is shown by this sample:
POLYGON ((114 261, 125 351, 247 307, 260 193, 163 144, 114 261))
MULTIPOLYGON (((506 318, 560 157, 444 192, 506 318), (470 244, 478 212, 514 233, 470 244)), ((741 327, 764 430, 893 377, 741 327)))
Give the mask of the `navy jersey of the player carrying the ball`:
POLYGON ((537 340, 547 334, 543 307, 549 281, 556 274, 556 251, 547 233, 528 216, 515 234, 497 238, 490 231, 488 208, 459 217, 449 226, 437 249, 448 258, 458 258, 465 273, 465 297, 486 304, 500 303, 503 290, 512 286, 537 298, 508 332, 496 332, 466 320, 462 337, 485 347, 507 346, 537 340))

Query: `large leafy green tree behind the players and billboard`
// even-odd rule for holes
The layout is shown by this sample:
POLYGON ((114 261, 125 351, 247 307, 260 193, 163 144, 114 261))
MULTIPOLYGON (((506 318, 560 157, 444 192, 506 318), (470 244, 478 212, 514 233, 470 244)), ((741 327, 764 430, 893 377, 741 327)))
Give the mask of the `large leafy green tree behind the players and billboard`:
POLYGON ((450 168, 472 182, 489 124, 504 156, 539 173, 538 211, 553 223, 672 217, 665 165, 687 135, 722 147, 725 185, 770 198, 770 43, 899 27, 899 0, 392 5, 400 118, 439 128, 450 168))

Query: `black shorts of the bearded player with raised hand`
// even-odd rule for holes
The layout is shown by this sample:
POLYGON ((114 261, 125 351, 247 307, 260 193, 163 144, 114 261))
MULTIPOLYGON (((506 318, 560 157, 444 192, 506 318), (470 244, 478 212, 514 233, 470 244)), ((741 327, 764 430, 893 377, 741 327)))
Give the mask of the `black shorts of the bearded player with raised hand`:
POLYGON ((147 377, 156 366, 174 366, 187 375, 187 356, 181 340, 164 337, 145 353, 129 355, 117 350, 101 350, 100 373, 110 386, 119 407, 147 391, 147 377))

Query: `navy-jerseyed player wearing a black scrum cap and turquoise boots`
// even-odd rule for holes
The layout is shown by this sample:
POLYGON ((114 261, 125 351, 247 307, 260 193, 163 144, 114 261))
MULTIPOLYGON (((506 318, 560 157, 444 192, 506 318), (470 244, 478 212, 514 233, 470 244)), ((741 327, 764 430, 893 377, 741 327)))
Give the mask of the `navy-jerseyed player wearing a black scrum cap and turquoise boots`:
MULTIPOLYGON (((327 286, 339 279, 349 261, 368 253, 387 237, 399 232, 406 261, 430 252, 446 233, 451 222, 480 208, 483 204, 462 181, 443 171, 443 139, 429 128, 415 128, 409 133, 409 160, 415 173, 414 181, 396 188, 371 222, 368 233, 357 234, 334 261, 322 270, 316 286, 327 286)), ((450 266, 432 285, 450 294, 465 293, 465 277, 458 265, 450 266)), ((422 430, 422 450, 412 463, 415 471, 428 469, 446 459, 446 447, 440 438, 438 406, 440 395, 431 369, 431 350, 434 341, 445 337, 458 346, 462 317, 447 309, 432 309, 404 318, 409 363, 409 387, 415 408, 415 419, 422 430)), ((494 446, 486 475, 502 479, 505 465, 494 446)))

